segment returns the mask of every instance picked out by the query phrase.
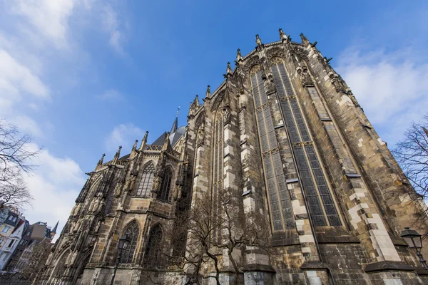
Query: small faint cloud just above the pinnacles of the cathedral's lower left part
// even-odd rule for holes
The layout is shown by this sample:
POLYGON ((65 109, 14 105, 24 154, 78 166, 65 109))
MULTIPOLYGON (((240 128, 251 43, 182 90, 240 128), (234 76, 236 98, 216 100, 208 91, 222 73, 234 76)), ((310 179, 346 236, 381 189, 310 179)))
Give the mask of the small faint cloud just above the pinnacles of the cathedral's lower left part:
POLYGON ((131 148, 136 140, 143 138, 143 134, 143 130, 132 123, 117 125, 106 138, 106 150, 116 152, 119 145, 122 145, 124 149, 131 148))

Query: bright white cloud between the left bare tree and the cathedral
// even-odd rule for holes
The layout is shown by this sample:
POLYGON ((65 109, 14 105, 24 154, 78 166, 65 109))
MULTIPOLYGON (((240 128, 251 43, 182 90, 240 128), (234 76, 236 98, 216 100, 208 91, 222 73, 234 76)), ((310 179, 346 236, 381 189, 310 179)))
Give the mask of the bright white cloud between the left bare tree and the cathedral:
MULTIPOLYGON (((31 145, 36 149, 37 145, 31 145)), ((48 222, 53 227, 59 220, 57 238, 65 225, 74 201, 85 183, 85 175, 71 158, 59 158, 41 150, 31 161, 39 165, 25 181, 34 197, 33 207, 25 211, 29 222, 48 222)))

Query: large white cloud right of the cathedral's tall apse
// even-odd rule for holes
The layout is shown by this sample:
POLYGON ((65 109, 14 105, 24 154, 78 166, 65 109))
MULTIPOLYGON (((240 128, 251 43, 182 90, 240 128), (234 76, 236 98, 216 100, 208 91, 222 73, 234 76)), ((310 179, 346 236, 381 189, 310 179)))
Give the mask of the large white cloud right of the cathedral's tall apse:
POLYGON ((383 140, 395 143, 412 120, 428 110, 428 63, 411 48, 363 52, 353 47, 339 58, 347 81, 383 140))

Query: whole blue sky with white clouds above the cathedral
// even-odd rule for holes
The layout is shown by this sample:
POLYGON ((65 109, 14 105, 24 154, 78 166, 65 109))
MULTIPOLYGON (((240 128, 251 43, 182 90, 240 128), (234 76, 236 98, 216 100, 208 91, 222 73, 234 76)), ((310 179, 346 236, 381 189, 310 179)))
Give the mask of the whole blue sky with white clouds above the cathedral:
POLYGON ((236 49, 305 33, 394 145, 428 110, 427 1, 0 1, 0 118, 34 136, 30 222, 60 227, 103 152, 180 125, 236 49), (411 4, 409 4, 411 3, 411 4))

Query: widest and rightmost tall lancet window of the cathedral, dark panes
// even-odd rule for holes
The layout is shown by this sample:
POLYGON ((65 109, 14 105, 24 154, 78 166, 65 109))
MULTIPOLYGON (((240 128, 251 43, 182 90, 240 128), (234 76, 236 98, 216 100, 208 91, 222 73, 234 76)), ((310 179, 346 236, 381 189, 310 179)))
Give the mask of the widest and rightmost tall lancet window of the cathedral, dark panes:
POLYGON ((318 160, 315 145, 310 138, 285 65, 280 58, 271 61, 271 65, 282 115, 295 152, 297 168, 314 224, 318 227, 340 226, 342 222, 327 184, 325 172, 318 160))

